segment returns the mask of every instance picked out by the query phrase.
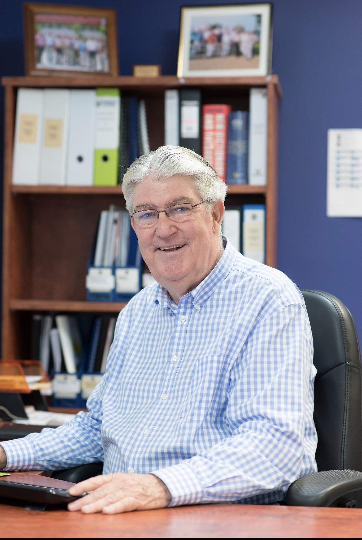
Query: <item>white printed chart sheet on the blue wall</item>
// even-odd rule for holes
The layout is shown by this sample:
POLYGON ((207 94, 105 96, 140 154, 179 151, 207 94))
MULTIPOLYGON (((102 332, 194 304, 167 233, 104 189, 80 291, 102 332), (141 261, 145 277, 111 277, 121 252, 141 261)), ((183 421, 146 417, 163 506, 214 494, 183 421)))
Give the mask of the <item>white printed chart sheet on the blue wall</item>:
POLYGON ((328 130, 327 216, 362 217, 362 129, 328 130))

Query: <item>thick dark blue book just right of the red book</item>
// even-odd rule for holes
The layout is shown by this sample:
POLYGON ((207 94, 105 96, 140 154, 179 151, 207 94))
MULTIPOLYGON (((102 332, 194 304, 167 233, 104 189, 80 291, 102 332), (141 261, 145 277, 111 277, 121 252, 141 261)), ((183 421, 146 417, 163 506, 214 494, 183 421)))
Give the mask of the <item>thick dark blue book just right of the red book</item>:
POLYGON ((249 113, 233 111, 229 114, 227 184, 248 182, 249 113))

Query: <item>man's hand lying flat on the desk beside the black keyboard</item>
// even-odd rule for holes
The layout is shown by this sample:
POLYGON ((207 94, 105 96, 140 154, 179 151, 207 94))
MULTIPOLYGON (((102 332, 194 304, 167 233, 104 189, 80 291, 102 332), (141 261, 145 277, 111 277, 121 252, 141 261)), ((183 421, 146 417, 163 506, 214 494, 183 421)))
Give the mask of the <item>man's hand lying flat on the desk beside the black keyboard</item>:
POLYGON ((114 473, 94 476, 73 485, 70 495, 88 495, 68 504, 68 510, 84 514, 120 514, 132 510, 165 508, 172 499, 167 486, 152 474, 114 473))

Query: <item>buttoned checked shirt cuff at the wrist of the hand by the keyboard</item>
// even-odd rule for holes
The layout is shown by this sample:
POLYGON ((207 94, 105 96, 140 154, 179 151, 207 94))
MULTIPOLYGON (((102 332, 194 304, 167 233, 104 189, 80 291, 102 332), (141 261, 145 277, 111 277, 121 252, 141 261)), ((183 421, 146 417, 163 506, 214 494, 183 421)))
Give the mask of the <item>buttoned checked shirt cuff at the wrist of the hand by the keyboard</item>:
POLYGON ((152 471, 152 474, 160 478, 172 495, 172 501, 168 507, 180 506, 181 504, 199 504, 204 497, 204 490, 199 478, 187 463, 179 463, 152 471))

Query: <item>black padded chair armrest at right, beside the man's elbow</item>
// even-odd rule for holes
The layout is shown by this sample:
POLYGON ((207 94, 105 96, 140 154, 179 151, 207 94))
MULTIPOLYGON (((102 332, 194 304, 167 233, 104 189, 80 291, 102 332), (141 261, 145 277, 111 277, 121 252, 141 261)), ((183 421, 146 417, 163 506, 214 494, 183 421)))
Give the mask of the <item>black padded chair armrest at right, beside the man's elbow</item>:
POLYGON ((321 471, 290 484, 285 502, 290 506, 327 507, 339 497, 362 489, 362 473, 352 470, 321 471))

